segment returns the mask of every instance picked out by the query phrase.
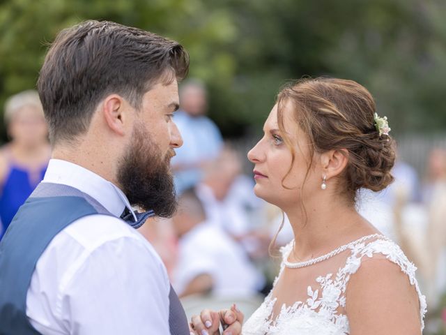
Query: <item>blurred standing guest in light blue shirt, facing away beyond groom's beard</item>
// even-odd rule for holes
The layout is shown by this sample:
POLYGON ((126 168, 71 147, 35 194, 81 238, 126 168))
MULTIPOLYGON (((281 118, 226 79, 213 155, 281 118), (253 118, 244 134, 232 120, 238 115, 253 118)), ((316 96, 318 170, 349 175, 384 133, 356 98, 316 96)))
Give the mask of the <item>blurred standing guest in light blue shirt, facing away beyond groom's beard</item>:
POLYGON ((206 87, 190 79, 180 86, 180 110, 175 123, 183 137, 183 146, 171 160, 175 172, 176 191, 195 186, 203 177, 206 163, 215 159, 222 148, 222 135, 214 122, 206 117, 206 87))

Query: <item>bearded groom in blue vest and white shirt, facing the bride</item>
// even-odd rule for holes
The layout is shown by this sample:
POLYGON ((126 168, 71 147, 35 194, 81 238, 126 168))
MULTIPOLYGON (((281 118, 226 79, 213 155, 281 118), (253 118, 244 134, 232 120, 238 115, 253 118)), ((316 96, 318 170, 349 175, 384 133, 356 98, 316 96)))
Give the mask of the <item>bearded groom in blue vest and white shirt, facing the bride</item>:
MULTIPOLYGON (((0 334, 192 332, 159 256, 134 229, 146 216, 131 207, 174 214, 169 161, 183 140, 172 116, 187 68, 178 43, 114 22, 56 37, 38 79, 52 160, 0 244, 0 334), (40 237, 50 239, 39 253, 40 237), (23 287, 26 301, 16 301, 9 292, 23 287)), ((236 308, 220 315, 240 334, 236 308)), ((203 316, 201 335, 214 334, 220 315, 203 316)))

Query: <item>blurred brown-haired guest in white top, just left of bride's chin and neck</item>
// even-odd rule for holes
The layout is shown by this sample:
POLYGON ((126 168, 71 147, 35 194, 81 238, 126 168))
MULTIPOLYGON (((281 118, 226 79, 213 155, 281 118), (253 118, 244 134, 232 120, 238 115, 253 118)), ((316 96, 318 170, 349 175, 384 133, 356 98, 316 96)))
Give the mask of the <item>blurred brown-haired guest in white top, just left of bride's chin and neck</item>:
POLYGON ((268 256, 270 233, 259 215, 265 202, 255 197, 253 187, 253 179, 242 173, 239 154, 226 143, 195 190, 210 222, 258 260, 268 256))

